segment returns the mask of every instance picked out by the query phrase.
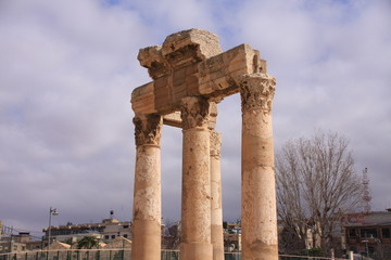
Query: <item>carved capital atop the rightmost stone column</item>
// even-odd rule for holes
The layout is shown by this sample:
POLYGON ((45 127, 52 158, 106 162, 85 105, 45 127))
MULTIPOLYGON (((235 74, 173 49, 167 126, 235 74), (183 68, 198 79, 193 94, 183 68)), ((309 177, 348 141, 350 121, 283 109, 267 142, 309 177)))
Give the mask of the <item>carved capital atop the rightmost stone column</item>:
POLYGON ((251 74, 242 78, 240 96, 242 112, 253 109, 272 112, 276 79, 267 74, 251 74))

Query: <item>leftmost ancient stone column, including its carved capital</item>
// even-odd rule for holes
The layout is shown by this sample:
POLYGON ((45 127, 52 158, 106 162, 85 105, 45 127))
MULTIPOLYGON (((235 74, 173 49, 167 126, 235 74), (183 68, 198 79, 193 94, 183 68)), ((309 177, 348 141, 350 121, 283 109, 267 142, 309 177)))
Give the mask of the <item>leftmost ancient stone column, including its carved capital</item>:
POLYGON ((136 115, 136 170, 131 259, 161 259, 160 115, 136 115))

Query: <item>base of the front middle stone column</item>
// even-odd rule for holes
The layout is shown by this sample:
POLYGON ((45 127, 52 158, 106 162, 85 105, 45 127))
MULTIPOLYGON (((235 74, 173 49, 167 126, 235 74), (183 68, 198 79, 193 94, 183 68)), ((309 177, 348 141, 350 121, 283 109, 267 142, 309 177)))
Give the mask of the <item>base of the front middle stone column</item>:
POLYGON ((210 243, 181 243, 180 260, 213 260, 213 246, 210 243))

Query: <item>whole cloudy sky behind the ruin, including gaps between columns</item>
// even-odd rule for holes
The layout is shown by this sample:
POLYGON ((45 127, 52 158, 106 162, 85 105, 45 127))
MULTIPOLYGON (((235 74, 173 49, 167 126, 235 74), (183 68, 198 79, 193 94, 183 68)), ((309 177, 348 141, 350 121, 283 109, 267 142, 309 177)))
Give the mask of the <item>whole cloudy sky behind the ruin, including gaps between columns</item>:
MULTIPOLYGON (((315 129, 350 140, 373 209, 391 207, 388 0, 1 0, 0 220, 18 230, 131 219, 131 91, 138 50, 203 28, 223 50, 249 43, 277 78, 278 150, 315 129)), ((219 104, 224 219, 240 218, 240 102, 219 104)), ((162 139, 164 221, 180 216, 181 131, 162 139)), ((37 233, 38 234, 38 233, 37 233)))

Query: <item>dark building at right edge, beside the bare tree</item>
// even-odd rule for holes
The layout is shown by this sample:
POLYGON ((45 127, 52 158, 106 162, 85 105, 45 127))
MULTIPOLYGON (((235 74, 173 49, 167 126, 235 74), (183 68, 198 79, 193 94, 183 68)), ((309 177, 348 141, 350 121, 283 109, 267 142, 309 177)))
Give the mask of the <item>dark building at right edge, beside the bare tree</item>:
POLYGON ((341 218, 342 247, 375 259, 391 258, 391 209, 341 218))

